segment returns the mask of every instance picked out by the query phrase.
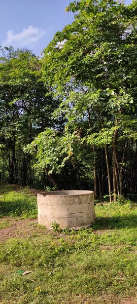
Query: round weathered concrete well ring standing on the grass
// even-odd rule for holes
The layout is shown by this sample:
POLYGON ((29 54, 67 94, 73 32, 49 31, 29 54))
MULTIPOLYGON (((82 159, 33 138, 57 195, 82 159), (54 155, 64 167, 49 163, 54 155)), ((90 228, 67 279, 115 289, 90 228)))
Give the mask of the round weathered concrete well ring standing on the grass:
POLYGON ((51 228, 55 221, 62 229, 86 227, 95 221, 92 191, 52 191, 37 195, 38 223, 51 228))

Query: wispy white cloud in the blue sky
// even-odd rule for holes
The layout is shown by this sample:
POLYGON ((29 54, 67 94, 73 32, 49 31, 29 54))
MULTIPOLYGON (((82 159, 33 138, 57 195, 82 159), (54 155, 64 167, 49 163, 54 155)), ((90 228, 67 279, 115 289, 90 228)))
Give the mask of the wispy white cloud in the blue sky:
POLYGON ((22 29, 18 34, 15 34, 13 30, 7 32, 7 39, 3 42, 3 47, 27 47, 35 45, 40 38, 45 34, 42 28, 29 25, 28 28, 22 29))

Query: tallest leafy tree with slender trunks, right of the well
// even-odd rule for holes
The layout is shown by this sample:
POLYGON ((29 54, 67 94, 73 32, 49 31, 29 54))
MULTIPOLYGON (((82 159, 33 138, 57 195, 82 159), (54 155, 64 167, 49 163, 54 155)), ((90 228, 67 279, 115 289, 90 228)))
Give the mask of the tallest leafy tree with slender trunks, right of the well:
MULTIPOLYGON (((83 122, 86 119, 89 124, 93 120, 98 122, 97 130, 94 128, 96 124, 93 124, 91 133, 92 139, 96 131, 99 140, 99 132, 103 136, 111 201, 110 162, 113 164, 114 197, 116 191, 122 195, 127 141, 124 124, 128 113, 128 121, 134 119, 131 129, 136 128, 136 2, 125 6, 116 1, 81 0, 71 3, 66 11, 77 12, 75 21, 57 32, 44 50, 43 79, 50 84, 56 96, 61 95, 64 102, 68 100, 68 109, 73 94, 77 108, 81 107, 83 122), (90 101, 92 94, 97 94, 98 90, 97 101, 90 101), (80 100, 77 99, 78 94, 81 95, 80 100), (90 102, 85 109, 87 99, 90 102), (101 131, 106 128, 110 133, 113 131, 111 145, 107 141, 105 144, 106 132, 101 131), (119 146, 121 139, 122 153, 119 146), (110 154, 112 147, 113 153, 110 154)), ((70 120, 69 117, 66 119, 70 120)), ((78 119, 75 120, 75 127, 76 124, 79 125, 78 119)), ((92 144, 95 143, 96 140, 92 140, 92 144)))

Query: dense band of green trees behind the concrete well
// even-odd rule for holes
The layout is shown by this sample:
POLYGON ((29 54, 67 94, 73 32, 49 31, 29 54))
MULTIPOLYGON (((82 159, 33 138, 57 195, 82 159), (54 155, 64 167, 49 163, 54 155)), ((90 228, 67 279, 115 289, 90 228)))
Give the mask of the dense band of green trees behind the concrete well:
POLYGON ((137 186, 137 2, 80 0, 66 11, 75 20, 43 58, 2 50, 1 180, 115 201, 137 186))

